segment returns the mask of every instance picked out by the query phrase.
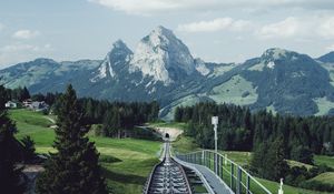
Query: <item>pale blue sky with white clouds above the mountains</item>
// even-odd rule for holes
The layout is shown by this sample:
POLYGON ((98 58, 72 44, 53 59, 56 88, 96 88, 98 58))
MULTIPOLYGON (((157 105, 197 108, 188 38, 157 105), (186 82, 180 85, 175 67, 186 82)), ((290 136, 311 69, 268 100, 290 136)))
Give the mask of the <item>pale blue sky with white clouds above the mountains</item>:
POLYGON ((157 25, 208 62, 243 62, 269 48, 334 51, 333 0, 2 0, 0 69, 104 59, 118 39, 134 51, 157 25))

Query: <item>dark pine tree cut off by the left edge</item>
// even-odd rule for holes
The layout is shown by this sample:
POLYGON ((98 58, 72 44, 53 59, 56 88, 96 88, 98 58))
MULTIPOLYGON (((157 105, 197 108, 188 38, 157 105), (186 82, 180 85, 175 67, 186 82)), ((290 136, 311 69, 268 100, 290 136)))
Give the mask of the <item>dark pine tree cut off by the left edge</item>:
POLYGON ((20 194, 26 190, 21 169, 18 162, 17 140, 13 136, 13 122, 8 118, 4 109, 4 88, 0 85, 0 192, 20 194))

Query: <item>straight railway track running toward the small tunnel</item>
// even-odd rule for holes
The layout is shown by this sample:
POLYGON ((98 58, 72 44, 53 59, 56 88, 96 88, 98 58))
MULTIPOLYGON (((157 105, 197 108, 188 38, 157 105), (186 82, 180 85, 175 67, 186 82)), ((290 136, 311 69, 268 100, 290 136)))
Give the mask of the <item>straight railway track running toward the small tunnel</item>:
POLYGON ((164 159, 154 167, 144 194, 193 194, 183 166, 170 157, 169 142, 164 146, 164 159))

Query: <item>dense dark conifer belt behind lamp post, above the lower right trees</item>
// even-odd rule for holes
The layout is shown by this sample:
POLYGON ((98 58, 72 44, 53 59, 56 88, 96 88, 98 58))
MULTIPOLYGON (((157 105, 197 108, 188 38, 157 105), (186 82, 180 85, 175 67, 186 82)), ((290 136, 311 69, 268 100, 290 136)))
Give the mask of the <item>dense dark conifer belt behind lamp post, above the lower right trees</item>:
POLYGON ((287 159, 299 161, 295 157, 304 151, 333 154, 334 119, 331 116, 282 116, 266 111, 250 113, 238 105, 199 103, 176 109, 175 121, 189 122, 186 134, 194 136, 202 146, 212 149, 213 115, 219 116, 218 147, 222 150, 252 151, 262 142, 284 136, 287 159))

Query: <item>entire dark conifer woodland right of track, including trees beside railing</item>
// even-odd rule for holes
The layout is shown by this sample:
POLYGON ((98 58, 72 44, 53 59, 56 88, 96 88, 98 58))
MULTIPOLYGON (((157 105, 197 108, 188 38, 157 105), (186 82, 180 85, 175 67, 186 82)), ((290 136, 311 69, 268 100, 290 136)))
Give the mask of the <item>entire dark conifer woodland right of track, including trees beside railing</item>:
POLYGON ((214 149, 212 116, 219 118, 218 150, 253 152, 248 169, 266 180, 285 178, 287 184, 333 192, 332 184, 316 180, 334 170, 314 164, 315 154, 334 155, 334 119, 331 116, 292 116, 267 111, 250 113, 247 108, 198 103, 177 108, 175 121, 187 122, 185 134, 204 149, 214 149), (288 165, 287 160, 311 164, 288 165))

